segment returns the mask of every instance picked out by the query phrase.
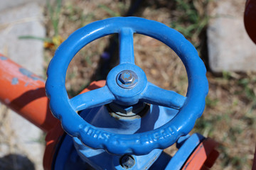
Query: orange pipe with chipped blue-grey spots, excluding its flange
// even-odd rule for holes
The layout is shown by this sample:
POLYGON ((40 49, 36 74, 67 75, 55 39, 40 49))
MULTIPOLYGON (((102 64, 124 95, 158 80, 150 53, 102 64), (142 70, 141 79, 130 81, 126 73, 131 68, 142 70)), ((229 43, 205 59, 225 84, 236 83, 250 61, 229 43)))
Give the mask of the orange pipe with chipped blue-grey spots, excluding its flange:
POLYGON ((1 54, 0 101, 45 132, 57 122, 48 107, 45 81, 1 54))

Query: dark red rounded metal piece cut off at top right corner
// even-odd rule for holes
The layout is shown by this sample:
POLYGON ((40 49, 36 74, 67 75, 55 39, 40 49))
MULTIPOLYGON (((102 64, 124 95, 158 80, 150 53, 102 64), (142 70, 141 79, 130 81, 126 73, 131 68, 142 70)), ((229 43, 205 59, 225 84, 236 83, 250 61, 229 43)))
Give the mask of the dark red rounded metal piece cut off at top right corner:
POLYGON ((256 44, 256 0, 247 0, 244 15, 245 29, 256 44))

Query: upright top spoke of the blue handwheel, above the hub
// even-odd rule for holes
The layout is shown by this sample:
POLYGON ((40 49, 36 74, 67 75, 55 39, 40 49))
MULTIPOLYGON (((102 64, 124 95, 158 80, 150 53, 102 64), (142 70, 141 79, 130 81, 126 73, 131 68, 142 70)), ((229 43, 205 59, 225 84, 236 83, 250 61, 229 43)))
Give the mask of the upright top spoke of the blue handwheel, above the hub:
POLYGON ((134 44, 132 28, 122 28, 119 32, 119 64, 134 64, 134 44))

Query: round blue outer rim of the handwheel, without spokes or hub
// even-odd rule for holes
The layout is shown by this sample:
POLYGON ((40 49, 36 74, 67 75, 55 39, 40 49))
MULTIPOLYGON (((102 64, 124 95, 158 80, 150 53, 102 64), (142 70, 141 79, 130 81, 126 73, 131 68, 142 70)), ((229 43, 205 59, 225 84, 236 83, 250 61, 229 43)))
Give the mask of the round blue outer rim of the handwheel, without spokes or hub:
POLYGON ((60 119, 63 129, 69 135, 78 137, 85 145, 95 149, 105 149, 113 154, 141 155, 148 154, 153 149, 165 149, 173 145, 178 137, 191 131, 196 119, 203 113, 208 94, 208 81, 206 67, 198 57, 196 49, 181 33, 156 21, 137 17, 117 17, 80 28, 58 47, 48 67, 46 94, 50 98, 53 115, 60 119), (132 28, 134 33, 148 35, 171 47, 181 58, 188 74, 187 98, 178 114, 160 128, 133 135, 107 132, 85 122, 70 106, 65 90, 65 74, 75 54, 97 38, 118 33, 121 26, 132 28), (93 133, 88 135, 89 131, 93 133))

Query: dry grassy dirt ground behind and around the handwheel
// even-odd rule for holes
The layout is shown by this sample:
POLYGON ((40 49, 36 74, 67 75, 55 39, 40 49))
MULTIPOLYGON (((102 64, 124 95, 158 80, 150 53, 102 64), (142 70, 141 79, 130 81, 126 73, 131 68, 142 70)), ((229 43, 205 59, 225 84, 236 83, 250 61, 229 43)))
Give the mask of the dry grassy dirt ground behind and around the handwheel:
MULTIPOLYGON (((139 16, 159 21, 180 31, 198 50, 208 67, 206 29, 208 1, 113 1, 59 2, 46 7, 45 42, 47 67, 56 47, 78 28, 113 16, 139 16), (58 5, 60 7, 58 8, 58 5), (56 24, 57 23, 57 24, 56 24)), ((186 96, 185 67, 163 43, 134 35, 134 55, 149 81, 186 96)), ((105 79, 118 63, 118 37, 110 35, 85 46, 68 68, 66 88, 75 96, 91 81, 105 79)), ((223 72, 208 69, 209 94, 206 109, 193 132, 220 143, 220 157, 212 169, 251 169, 256 141, 256 73, 223 72)), ((174 149, 166 149, 173 154, 174 149)))

